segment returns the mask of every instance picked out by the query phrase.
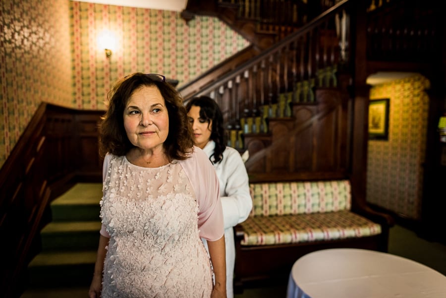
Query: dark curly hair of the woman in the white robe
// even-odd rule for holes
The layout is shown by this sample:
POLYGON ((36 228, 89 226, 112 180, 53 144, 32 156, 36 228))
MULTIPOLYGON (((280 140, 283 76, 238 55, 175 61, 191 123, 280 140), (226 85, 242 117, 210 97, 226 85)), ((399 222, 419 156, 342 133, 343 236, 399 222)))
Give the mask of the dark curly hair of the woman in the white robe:
MULTIPOLYGON (((223 127, 223 114, 215 100, 208 96, 194 97, 186 104, 186 111, 189 112, 192 106, 200 107, 200 118, 209 124, 212 120, 211 140, 215 142, 214 164, 223 159, 223 151, 226 148, 226 131, 223 127)), ((210 158, 211 159, 211 158, 210 158)), ((212 161, 212 159, 211 159, 212 161)))

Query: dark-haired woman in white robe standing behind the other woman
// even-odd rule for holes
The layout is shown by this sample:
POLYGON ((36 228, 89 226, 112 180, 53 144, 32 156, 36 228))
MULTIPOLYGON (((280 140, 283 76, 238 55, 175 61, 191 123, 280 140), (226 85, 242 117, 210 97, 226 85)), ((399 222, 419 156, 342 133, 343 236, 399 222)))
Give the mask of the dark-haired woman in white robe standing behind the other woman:
POLYGON ((195 145, 209 157, 220 181, 226 241, 226 292, 227 297, 232 298, 235 264, 232 227, 246 220, 252 209, 248 174, 240 153, 226 147, 222 111, 217 103, 207 96, 196 97, 187 103, 186 110, 192 123, 195 145))

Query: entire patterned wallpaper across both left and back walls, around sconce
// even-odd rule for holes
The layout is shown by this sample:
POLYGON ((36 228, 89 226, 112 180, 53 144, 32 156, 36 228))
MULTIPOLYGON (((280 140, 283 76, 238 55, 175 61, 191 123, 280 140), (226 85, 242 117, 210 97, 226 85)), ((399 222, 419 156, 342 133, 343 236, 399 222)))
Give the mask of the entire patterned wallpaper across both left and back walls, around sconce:
POLYGON ((69 0, 2 0, 0 27, 0 167, 42 102, 102 110, 119 77, 159 72, 181 86, 249 45, 217 18, 69 0))

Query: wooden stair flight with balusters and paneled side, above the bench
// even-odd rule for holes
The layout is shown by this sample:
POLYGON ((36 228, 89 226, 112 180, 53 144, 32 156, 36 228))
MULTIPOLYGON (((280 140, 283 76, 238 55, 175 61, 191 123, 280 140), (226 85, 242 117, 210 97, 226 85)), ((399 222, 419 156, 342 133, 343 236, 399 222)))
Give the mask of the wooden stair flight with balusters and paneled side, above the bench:
POLYGON ((228 145, 249 151, 245 165, 251 180, 328 172, 345 177, 352 115, 346 89, 351 76, 345 71, 349 36, 343 34, 348 2, 194 94, 219 103, 228 145))

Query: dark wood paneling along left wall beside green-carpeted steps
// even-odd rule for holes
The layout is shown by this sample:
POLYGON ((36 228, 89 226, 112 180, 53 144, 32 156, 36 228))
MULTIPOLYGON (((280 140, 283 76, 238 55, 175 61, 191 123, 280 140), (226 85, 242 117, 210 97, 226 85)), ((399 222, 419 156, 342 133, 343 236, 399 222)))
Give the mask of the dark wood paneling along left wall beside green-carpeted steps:
POLYGON ((25 270, 40 247, 49 203, 70 180, 102 181, 98 122, 102 111, 42 103, 0 170, 0 269, 4 297, 19 297, 25 270))

